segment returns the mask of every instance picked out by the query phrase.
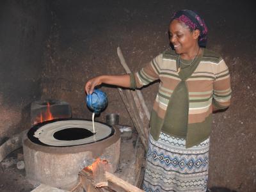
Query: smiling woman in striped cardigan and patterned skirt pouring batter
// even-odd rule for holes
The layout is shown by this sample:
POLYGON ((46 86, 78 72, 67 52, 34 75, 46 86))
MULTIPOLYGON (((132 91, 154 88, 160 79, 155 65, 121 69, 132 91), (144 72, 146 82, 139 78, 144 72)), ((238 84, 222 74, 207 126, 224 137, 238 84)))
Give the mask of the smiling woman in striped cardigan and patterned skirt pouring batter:
POLYGON ((160 80, 150 117, 145 191, 206 191, 212 111, 228 108, 230 76, 225 61, 205 49, 207 27, 191 10, 170 22, 172 48, 139 72, 98 76, 85 86, 92 93, 106 83, 140 88, 160 80))

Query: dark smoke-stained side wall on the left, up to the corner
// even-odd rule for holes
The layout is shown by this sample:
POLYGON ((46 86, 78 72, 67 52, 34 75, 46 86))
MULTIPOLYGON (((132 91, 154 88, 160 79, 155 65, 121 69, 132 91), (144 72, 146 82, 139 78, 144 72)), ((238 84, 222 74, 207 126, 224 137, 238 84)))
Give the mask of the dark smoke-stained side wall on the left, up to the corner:
POLYGON ((29 107, 40 99, 40 77, 51 15, 48 1, 0 3, 0 139, 29 128, 29 107))

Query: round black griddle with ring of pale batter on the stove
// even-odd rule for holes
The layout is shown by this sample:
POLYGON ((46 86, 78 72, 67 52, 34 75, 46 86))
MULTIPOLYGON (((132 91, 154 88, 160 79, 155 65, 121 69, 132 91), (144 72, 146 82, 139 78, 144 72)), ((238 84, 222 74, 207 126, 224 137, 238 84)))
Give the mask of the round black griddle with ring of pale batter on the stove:
POLYGON ((102 141, 115 132, 113 127, 83 119, 58 119, 36 124, 28 132, 33 143, 52 147, 70 147, 102 141))

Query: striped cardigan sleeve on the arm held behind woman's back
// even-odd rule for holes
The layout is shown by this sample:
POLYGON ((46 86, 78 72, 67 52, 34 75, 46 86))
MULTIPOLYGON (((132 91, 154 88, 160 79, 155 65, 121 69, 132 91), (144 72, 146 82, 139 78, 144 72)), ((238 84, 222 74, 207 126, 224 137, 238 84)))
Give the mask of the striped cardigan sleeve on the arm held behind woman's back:
POLYGON ((231 98, 230 74, 225 61, 222 59, 217 65, 215 77, 212 104, 216 109, 228 108, 231 98))

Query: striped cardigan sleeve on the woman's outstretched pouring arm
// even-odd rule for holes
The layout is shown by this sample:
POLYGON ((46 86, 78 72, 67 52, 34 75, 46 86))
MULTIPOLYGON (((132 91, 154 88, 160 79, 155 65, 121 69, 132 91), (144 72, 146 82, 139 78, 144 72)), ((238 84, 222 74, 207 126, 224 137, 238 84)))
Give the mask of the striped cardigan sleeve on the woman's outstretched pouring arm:
POLYGON ((140 71, 134 72, 130 75, 131 77, 131 88, 141 88, 153 81, 159 79, 159 64, 161 63, 162 56, 159 55, 154 58, 145 67, 141 68, 140 71))

